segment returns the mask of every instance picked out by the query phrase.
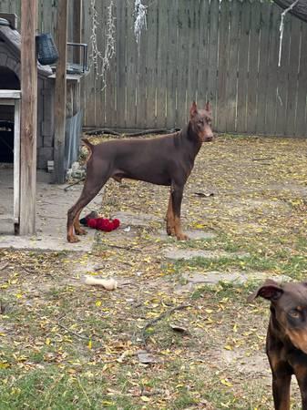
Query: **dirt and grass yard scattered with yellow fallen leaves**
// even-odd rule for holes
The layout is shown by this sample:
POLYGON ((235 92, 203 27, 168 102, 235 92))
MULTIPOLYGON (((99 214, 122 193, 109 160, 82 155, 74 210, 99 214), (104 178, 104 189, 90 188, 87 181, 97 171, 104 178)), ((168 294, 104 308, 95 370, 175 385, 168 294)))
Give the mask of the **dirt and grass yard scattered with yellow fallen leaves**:
POLYGON ((182 204, 190 241, 165 233, 167 188, 112 180, 87 210, 121 226, 91 251, 0 250, 0 409, 271 409, 269 306, 246 298, 266 277, 306 277, 306 148, 204 144, 182 204))

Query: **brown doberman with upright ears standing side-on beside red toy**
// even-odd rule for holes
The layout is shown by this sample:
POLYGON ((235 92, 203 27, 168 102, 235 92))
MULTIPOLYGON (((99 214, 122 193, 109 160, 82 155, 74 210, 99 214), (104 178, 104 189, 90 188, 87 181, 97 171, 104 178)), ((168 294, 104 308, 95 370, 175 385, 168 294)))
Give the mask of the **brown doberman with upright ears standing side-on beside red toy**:
POLYGON ((67 241, 78 241, 74 228, 77 235, 86 233, 79 224, 80 213, 110 178, 118 181, 137 179, 170 186, 167 232, 178 240, 187 240, 180 226, 182 193, 202 142, 213 138, 211 121, 210 103, 205 109, 198 109, 193 102, 189 123, 174 134, 157 138, 116 139, 97 145, 83 139, 89 149, 87 179, 80 198, 67 212, 67 241))

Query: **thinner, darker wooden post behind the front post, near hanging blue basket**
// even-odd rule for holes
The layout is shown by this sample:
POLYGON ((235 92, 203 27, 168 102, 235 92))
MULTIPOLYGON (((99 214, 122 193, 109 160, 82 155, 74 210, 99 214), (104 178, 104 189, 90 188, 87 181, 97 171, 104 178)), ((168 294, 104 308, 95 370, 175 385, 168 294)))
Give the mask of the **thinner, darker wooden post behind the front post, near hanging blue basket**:
POLYGON ((65 182, 65 124, 67 102, 67 14, 68 1, 57 5, 56 45, 59 58, 56 65, 55 90, 55 182, 65 182))

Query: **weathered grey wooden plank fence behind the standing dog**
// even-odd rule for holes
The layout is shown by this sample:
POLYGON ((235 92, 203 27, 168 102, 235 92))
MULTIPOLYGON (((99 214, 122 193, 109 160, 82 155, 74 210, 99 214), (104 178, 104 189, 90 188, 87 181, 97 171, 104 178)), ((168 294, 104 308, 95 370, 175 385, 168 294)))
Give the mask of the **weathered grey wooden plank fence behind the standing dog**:
MULTIPOLYGON (((96 0, 102 53, 110 1, 96 0)), ((53 31, 57 2, 39 3, 40 29, 53 31)), ((19 14, 19 4, 0 0, 0 10, 19 14)), ((191 101, 201 107, 209 99, 217 131, 307 136, 307 24, 286 16, 278 67, 281 8, 270 1, 143 0, 148 25, 139 47, 134 1, 114 4, 116 56, 105 88, 93 69, 85 80, 85 126, 181 127, 191 101)), ((90 44, 89 0, 84 16, 90 44)))

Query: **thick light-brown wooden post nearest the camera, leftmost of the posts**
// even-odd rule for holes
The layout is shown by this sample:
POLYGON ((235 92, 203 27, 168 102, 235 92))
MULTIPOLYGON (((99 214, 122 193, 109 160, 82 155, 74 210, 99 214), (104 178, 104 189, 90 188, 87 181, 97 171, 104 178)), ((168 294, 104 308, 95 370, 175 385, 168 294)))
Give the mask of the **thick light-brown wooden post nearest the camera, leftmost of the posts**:
POLYGON ((21 127, 20 225, 21 235, 36 232, 36 63, 37 1, 28 0, 21 13, 21 127))

